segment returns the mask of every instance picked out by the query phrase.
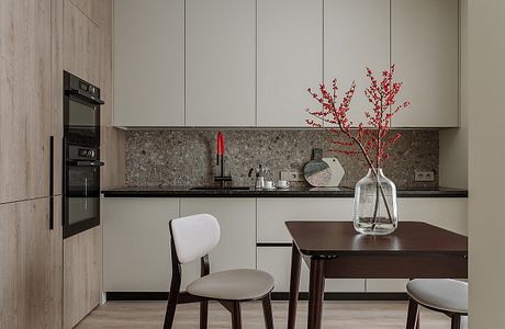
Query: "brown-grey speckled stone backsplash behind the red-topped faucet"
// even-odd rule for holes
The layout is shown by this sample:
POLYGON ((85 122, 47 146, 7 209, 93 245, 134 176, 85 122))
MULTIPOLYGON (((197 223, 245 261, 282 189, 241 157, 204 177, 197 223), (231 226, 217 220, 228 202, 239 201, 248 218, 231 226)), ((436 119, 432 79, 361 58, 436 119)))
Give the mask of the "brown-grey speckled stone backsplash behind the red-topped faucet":
MULTIPOLYGON (((384 173, 400 189, 438 186, 438 132, 402 131, 384 173), (414 181, 415 170, 434 170, 435 182, 414 181)), ((250 168, 270 169, 267 179, 277 181, 280 171, 302 170, 312 149, 336 157, 346 173, 340 186, 354 186, 367 173, 361 157, 332 154, 328 133, 318 129, 226 129, 223 131, 226 163, 234 185, 254 185, 250 168)), ((134 186, 212 185, 214 182, 217 131, 128 131, 126 132, 126 184, 134 186)), ((302 183, 306 184, 306 183, 302 183)))

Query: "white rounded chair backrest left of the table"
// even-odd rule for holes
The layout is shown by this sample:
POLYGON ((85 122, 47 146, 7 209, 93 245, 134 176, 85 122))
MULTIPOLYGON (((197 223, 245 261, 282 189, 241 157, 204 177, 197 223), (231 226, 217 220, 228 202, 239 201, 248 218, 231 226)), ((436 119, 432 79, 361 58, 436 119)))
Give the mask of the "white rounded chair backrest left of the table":
POLYGON ((207 254, 220 241, 217 219, 199 214, 170 220, 170 232, 180 263, 188 263, 207 254))

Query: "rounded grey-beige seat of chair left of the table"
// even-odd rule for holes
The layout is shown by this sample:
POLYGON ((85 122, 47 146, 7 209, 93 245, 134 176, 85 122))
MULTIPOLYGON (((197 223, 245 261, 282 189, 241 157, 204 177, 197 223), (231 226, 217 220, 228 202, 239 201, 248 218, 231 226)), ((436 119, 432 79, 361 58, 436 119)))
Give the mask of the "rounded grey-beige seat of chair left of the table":
POLYGON ((231 270, 193 281, 186 291, 191 295, 220 300, 258 299, 273 290, 273 277, 263 271, 231 270))

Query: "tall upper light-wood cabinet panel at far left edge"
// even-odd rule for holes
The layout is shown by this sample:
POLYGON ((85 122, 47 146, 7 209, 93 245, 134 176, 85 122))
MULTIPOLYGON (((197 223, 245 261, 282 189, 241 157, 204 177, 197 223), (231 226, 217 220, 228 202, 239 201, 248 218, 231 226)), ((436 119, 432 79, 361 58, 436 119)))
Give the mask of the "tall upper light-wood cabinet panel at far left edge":
POLYGON ((50 0, 0 2, 0 203, 48 195, 50 0))

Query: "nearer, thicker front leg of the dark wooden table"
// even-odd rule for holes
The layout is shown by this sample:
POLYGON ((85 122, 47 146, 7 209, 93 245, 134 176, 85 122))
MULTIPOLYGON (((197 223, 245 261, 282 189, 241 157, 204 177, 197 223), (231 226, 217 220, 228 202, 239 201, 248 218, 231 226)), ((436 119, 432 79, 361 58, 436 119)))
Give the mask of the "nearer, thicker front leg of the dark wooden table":
POLYGON ((308 284, 308 329, 321 329, 324 295, 324 265, 322 259, 311 258, 311 279, 308 284))

